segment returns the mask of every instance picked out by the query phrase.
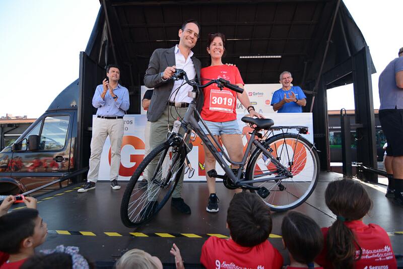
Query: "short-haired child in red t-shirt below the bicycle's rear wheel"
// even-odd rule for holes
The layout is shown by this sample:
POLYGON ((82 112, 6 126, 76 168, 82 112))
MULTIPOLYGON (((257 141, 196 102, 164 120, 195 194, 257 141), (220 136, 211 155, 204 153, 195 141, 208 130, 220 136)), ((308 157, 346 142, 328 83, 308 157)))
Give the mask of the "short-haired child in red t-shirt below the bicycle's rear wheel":
POLYGON ((200 262, 210 268, 281 268, 283 257, 268 242, 270 210, 255 193, 234 195, 227 212, 229 239, 210 237, 201 248, 200 262))

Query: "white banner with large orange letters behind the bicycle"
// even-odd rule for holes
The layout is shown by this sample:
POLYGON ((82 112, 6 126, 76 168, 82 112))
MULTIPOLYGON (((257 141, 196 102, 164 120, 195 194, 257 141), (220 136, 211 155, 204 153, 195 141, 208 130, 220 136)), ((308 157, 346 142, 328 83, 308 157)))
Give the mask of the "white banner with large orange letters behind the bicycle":
MULTIPOLYGON (((309 142, 313 144, 313 123, 312 113, 263 113, 264 117, 271 118, 275 122, 275 126, 307 126, 309 132, 302 134, 309 142)), ((242 129, 242 141, 244 146, 247 145, 248 132, 251 131, 249 124, 241 121, 244 114, 238 114, 239 128, 242 129)), ((94 117, 96 117, 94 115, 94 117)), ((135 172, 139 164, 144 158, 144 129, 146 126, 146 115, 125 115, 124 118, 124 137, 121 148, 121 161, 119 168, 118 180, 129 180, 135 172)), ((290 129, 289 132, 297 132, 296 129, 290 129)), ((275 134, 280 133, 276 131, 275 134)), ((201 145, 199 137, 195 139, 192 151, 187 155, 190 165, 185 169, 184 180, 188 181, 206 181, 206 171, 204 169, 204 149, 201 145)), ((245 147, 246 148, 246 147, 245 147)), ((245 149, 244 149, 245 150, 245 149)), ((109 180, 110 168, 110 141, 106 139, 103 147, 101 164, 99 168, 99 180, 109 180)), ((217 165, 218 174, 224 174, 222 168, 217 165)))

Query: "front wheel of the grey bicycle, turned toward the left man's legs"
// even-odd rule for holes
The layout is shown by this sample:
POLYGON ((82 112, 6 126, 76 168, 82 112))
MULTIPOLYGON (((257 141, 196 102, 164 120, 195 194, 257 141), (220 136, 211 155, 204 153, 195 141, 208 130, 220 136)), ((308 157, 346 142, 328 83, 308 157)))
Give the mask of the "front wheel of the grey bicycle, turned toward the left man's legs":
POLYGON ((120 219, 124 226, 129 228, 137 227, 150 221, 158 214, 178 183, 183 171, 185 157, 186 152, 181 145, 171 147, 168 143, 163 143, 144 158, 131 176, 123 193, 120 205, 120 219), (169 153, 169 149, 172 149, 172 155, 169 153), (148 181, 148 184, 151 183, 156 187, 155 190, 153 188, 149 190, 147 185, 139 186, 139 179, 143 178, 144 170, 154 158, 158 158, 156 173, 148 181), (139 183, 137 184, 138 181, 139 183), (152 195, 151 199, 149 199, 150 195, 152 195), (158 201, 158 206, 155 209, 151 204, 153 199, 158 201), (135 206, 134 209, 133 206, 135 206), (147 207, 151 207, 151 211, 148 213, 147 207))

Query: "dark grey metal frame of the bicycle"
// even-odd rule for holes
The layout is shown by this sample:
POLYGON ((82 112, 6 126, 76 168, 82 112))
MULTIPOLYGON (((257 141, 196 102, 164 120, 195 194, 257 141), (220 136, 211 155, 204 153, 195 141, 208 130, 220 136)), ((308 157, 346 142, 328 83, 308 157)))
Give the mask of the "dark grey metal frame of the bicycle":
MULTIPOLYGON (((191 93, 198 93, 199 92, 199 87, 197 85, 194 85, 194 84, 192 86, 193 86, 193 91, 191 93)), ((276 158, 274 158, 273 155, 269 151, 267 151, 258 140, 255 140, 255 136, 256 136, 256 132, 257 132, 256 129, 252 131, 252 135, 251 135, 251 138, 249 139, 248 145, 246 147, 245 154, 242 157, 242 161, 241 162, 232 161, 228 157, 226 152, 224 151, 223 147, 217 141, 215 136, 213 136, 213 134, 211 133, 211 131, 208 128, 208 126, 205 123, 205 121, 201 118, 200 114, 198 113, 198 111, 196 109, 196 104, 195 104, 195 96, 196 95, 195 94, 193 94, 193 95, 194 95, 193 96, 193 101, 189 104, 189 107, 188 107, 183 119, 181 120, 181 123, 182 123, 181 127, 185 129, 185 134, 183 136, 183 140, 186 138, 186 136, 190 135, 190 131, 191 131, 191 129, 193 129, 196 132, 196 134, 200 137, 201 141, 203 141, 203 143, 206 145, 206 147, 213 154, 214 158, 218 161, 219 165, 223 168, 223 170, 225 171, 225 173, 231 179, 232 183, 235 186, 245 187, 245 188, 248 188, 248 189, 258 189, 258 187, 253 187, 253 186, 251 186, 249 184, 257 183, 257 182, 266 182, 266 181, 270 181, 270 180, 280 180, 280 179, 290 178, 290 177, 293 176, 292 173, 286 167, 284 167, 276 158), (194 117, 194 113, 196 114, 197 119, 194 117), (207 137, 207 134, 205 134, 205 132, 200 128, 200 125, 198 124, 197 120, 200 120, 201 123, 206 127, 206 129, 208 130, 208 132, 209 132, 210 136, 212 137, 214 143, 221 150, 222 155, 224 156, 224 158, 228 162, 230 162, 231 164, 239 166, 239 168, 237 170, 237 175, 235 175, 234 172, 232 171, 232 169, 230 169, 228 167, 228 165, 226 164, 224 158, 218 153, 216 147, 214 147, 213 143, 207 137), (189 129, 187 127, 187 125, 190 125, 191 129, 189 129), (252 145, 255 145, 257 148, 261 149, 262 153, 267 158, 270 158, 271 161, 275 164, 275 166, 280 170, 278 172, 283 172, 283 174, 285 174, 285 175, 276 176, 276 177, 271 178, 271 179, 265 178, 265 179, 254 179, 254 180, 240 181, 241 176, 242 176, 242 171, 245 168, 245 164, 247 162, 247 159, 248 159, 249 153, 251 151, 252 145)), ((171 136, 169 138, 173 138, 173 137, 176 137, 176 136, 180 136, 180 134, 172 132, 171 136)), ((270 174, 273 174, 273 172, 271 172, 270 174)))

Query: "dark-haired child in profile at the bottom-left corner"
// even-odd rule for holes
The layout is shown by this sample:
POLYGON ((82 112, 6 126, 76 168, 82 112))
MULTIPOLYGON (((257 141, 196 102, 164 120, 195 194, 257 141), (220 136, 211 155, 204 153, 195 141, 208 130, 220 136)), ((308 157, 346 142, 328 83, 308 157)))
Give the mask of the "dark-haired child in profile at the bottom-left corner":
POLYGON ((21 209, 0 217, 0 251, 9 259, 0 269, 19 268, 45 242, 46 223, 36 209, 21 209))

